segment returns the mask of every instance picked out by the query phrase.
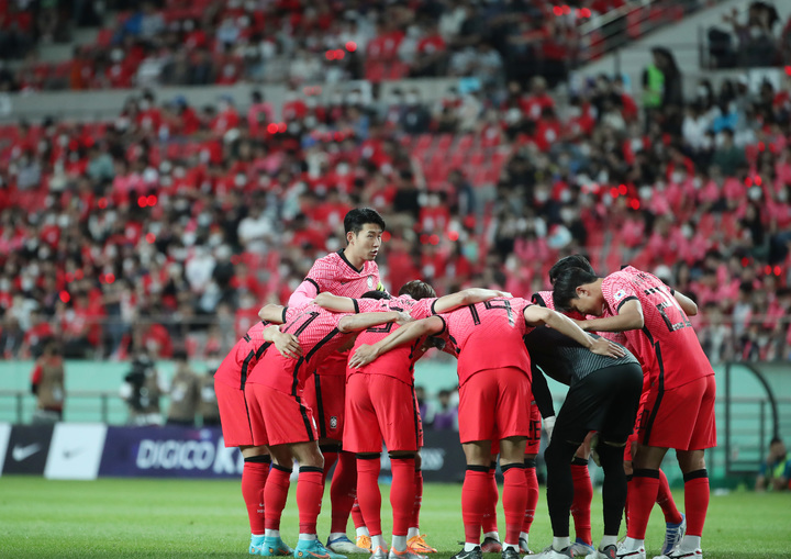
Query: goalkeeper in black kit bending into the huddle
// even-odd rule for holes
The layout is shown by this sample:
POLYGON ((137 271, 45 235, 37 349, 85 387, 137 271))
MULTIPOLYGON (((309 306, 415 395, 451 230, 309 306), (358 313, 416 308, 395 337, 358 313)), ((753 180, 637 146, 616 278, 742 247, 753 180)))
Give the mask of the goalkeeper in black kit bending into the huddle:
MULTIPOLYGON (((538 327, 525 336, 531 362, 555 380, 570 385, 558 413, 544 458, 547 463, 547 504, 553 545, 528 557, 576 557, 569 538, 569 512, 575 500, 571 459, 591 431, 599 432, 599 459, 604 470, 604 537, 589 559, 612 559, 616 554, 621 515, 626 502, 623 447, 635 423, 643 370, 625 350, 619 359, 591 355, 556 329, 538 327)), ((534 369, 535 370, 535 369, 534 369)), ((590 529, 590 528, 589 528, 590 529)))

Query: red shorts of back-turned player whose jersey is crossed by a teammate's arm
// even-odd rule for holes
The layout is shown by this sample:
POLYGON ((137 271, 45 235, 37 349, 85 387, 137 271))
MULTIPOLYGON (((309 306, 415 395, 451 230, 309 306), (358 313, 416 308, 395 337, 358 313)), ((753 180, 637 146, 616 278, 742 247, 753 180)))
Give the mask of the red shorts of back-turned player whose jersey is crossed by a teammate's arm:
POLYGON ((352 374, 346 385, 344 450, 381 452, 416 451, 422 443, 421 422, 414 389, 386 374, 352 374))

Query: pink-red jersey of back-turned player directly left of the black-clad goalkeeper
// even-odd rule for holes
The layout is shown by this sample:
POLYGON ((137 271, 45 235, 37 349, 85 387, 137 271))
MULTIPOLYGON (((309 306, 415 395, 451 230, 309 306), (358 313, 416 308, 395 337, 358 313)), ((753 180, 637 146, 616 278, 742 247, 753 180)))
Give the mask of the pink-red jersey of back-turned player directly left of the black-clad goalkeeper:
POLYGON ((439 315, 446 325, 443 337, 458 357, 459 385, 487 369, 515 367, 530 377, 522 337, 532 329, 524 320, 531 304, 525 299, 495 298, 439 315))

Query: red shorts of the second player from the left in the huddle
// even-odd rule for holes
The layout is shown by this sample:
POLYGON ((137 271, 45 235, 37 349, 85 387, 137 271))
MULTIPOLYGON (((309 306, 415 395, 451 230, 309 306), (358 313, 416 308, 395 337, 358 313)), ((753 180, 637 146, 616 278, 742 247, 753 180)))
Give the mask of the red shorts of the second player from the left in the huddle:
POLYGON ((245 394, 256 446, 290 445, 319 438, 313 412, 299 396, 253 383, 247 383, 245 394))

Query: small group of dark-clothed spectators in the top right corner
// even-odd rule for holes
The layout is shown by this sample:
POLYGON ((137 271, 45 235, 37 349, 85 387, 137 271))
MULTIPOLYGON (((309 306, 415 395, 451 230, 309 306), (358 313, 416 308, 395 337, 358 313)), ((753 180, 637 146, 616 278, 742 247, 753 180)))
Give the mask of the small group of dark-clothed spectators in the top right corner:
POLYGON ((713 67, 780 66, 791 60, 791 16, 783 22, 773 2, 753 1, 744 14, 734 8, 722 22, 709 30, 713 67))

